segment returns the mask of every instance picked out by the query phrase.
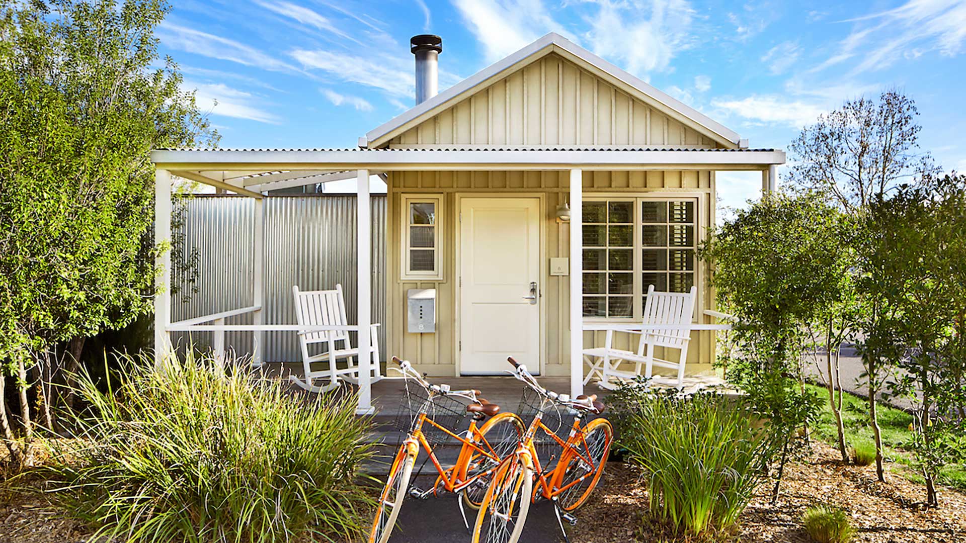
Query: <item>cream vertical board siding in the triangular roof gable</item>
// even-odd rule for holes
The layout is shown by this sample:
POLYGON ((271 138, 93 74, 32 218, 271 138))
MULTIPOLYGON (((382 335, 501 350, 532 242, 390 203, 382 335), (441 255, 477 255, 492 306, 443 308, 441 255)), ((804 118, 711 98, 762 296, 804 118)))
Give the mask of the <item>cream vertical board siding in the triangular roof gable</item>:
POLYGON ((403 132, 390 145, 716 147, 696 129, 550 54, 403 132))

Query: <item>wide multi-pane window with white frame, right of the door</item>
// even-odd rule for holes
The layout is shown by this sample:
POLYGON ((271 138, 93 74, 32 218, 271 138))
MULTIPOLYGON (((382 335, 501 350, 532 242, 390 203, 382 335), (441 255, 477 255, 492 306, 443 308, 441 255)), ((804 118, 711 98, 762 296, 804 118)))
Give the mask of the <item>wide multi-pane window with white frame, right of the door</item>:
POLYGON ((584 317, 639 319, 648 285, 696 284, 696 198, 588 199, 582 208, 584 317))

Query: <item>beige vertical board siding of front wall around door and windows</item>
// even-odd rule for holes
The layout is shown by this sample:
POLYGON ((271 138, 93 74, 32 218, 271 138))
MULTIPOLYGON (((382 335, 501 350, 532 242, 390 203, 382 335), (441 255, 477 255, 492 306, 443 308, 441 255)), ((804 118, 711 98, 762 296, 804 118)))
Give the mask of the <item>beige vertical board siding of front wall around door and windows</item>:
MULTIPOLYGON (((566 171, 443 171, 443 172, 390 172, 388 178, 387 232, 385 243, 387 254, 386 314, 388 349, 390 355, 404 357, 419 364, 421 371, 432 375, 451 376, 456 372, 456 358, 459 350, 457 336, 456 300, 458 296, 458 270, 456 265, 456 238, 459 233, 457 196, 486 193, 520 193, 521 195, 540 194, 544 198, 544 211, 541 229, 545 243, 542 258, 568 256, 570 228, 559 224, 555 219, 558 205, 567 201, 569 184, 566 171), (443 277, 440 281, 401 280, 400 272, 400 232, 399 216, 403 193, 424 192, 441 193, 443 202, 443 225, 441 248, 443 277), (406 330, 406 291, 415 288, 437 289, 437 331, 435 333, 410 333, 406 330)), ((585 197, 602 193, 619 192, 628 196, 645 195, 654 190, 662 190, 663 196, 674 190, 703 192, 713 195, 714 183, 709 171, 585 171, 583 172, 585 197), (666 190, 667 189, 667 190, 666 190)), ((698 210, 700 224, 706 227, 714 223, 715 198, 704 198, 705 206, 698 210)), ((703 238, 702 238, 703 239, 703 238)), ((699 266, 703 266, 700 265, 699 266)), ((706 285, 703 289, 700 309, 714 308, 713 292, 706 285)), ((569 375, 570 344, 569 330, 569 281, 566 275, 556 276, 546 272, 540 285, 545 305, 546 329, 544 344, 545 372, 547 375, 569 375)), ((703 322, 703 321, 699 321, 703 322)), ((584 345, 601 344, 604 332, 584 332, 584 345)), ((713 332, 695 331, 694 342, 688 353, 687 373, 708 372, 712 370, 714 357, 713 332)), ((637 336, 626 333, 615 334, 614 346, 618 349, 636 351, 634 343, 637 336)), ((663 356, 659 350, 657 355, 663 356)), ((668 354, 671 355, 671 354, 668 354)), ((676 356, 676 355, 675 355, 676 356)))

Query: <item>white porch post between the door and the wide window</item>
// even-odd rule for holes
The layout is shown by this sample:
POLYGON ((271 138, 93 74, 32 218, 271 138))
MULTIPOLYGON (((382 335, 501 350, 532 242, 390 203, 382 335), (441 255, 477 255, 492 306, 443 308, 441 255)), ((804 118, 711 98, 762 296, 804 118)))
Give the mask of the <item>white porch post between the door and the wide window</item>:
POLYGON ((582 170, 570 170, 570 397, 583 393, 582 170))

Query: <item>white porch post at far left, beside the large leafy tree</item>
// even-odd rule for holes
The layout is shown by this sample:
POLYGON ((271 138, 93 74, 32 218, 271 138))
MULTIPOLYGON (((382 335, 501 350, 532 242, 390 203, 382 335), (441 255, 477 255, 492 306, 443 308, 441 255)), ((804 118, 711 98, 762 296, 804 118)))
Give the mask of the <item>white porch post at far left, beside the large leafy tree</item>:
MULTIPOLYGON (((171 173, 155 171, 155 243, 171 241, 171 173)), ((168 356, 171 348, 171 249, 157 255, 156 266, 161 270, 155 279, 155 367, 168 356)))

